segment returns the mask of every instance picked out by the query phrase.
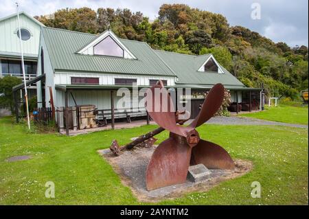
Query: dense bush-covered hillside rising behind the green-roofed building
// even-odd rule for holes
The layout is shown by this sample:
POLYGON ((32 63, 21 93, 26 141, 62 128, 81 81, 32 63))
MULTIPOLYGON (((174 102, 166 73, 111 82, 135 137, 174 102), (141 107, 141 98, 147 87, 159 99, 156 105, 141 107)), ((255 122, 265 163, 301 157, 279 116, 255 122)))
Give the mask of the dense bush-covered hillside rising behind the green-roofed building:
POLYGON ((290 48, 257 32, 230 27, 225 16, 184 4, 163 4, 150 22, 128 9, 62 9, 36 19, 50 27, 98 34, 111 27, 121 38, 145 41, 154 49, 183 54, 212 53, 247 87, 262 87, 269 96, 288 96, 308 89, 308 47, 290 48))

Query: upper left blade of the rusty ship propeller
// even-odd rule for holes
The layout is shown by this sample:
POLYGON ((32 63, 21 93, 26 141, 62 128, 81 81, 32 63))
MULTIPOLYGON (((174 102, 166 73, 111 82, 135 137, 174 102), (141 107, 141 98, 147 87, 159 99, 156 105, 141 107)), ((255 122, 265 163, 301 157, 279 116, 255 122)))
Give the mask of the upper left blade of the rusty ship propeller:
POLYGON ((156 84, 146 93, 146 110, 150 117, 162 128, 186 137, 192 128, 176 125, 174 104, 162 84, 156 84))

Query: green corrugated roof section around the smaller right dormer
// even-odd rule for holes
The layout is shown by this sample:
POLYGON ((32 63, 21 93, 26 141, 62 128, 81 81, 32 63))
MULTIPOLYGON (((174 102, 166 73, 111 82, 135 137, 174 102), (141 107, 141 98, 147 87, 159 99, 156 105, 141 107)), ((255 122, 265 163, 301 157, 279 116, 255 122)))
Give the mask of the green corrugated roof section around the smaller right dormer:
POLYGON ((178 54, 170 51, 155 50, 164 62, 176 73, 179 80, 177 84, 216 84, 222 83, 225 86, 244 87, 244 84, 234 77, 227 69, 221 67, 224 73, 197 71, 199 67, 211 56, 193 56, 178 54))

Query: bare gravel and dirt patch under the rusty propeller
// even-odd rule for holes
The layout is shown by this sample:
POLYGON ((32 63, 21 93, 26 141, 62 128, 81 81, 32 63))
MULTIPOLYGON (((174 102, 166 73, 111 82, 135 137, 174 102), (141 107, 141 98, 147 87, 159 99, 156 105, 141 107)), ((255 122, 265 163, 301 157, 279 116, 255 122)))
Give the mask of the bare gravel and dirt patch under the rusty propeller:
POLYGON ((163 198, 176 198, 187 192, 205 192, 220 182, 242 176, 253 168, 251 161, 235 160, 236 168, 234 170, 211 170, 211 176, 205 181, 194 183, 187 179, 182 184, 147 191, 146 168, 156 147, 135 147, 133 150, 123 151, 119 157, 115 157, 109 148, 98 150, 98 152, 119 174, 122 183, 130 187, 140 201, 147 202, 156 202, 163 198))

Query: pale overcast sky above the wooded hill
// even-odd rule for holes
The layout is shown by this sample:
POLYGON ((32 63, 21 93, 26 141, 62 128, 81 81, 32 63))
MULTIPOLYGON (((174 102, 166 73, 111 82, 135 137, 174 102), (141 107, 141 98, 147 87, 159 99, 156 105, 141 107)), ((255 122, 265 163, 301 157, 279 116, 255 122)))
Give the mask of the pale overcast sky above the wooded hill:
POLYGON ((155 19, 163 3, 186 3, 192 8, 220 13, 230 25, 242 25, 290 46, 308 46, 308 0, 1 0, 0 17, 16 12, 15 2, 28 14, 51 14, 60 8, 129 8, 155 19), (259 3, 260 19, 251 19, 252 3, 259 3))

